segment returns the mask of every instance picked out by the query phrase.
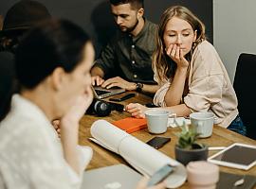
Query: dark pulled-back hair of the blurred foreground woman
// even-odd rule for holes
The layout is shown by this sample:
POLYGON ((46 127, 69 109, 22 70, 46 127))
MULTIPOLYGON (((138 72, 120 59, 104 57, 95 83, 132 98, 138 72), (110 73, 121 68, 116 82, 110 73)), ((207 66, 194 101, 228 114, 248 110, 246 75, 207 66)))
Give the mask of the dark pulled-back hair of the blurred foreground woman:
POLYGON ((82 27, 67 20, 52 19, 31 29, 16 51, 16 74, 21 87, 36 87, 57 67, 65 72, 74 70, 88 41, 82 27))

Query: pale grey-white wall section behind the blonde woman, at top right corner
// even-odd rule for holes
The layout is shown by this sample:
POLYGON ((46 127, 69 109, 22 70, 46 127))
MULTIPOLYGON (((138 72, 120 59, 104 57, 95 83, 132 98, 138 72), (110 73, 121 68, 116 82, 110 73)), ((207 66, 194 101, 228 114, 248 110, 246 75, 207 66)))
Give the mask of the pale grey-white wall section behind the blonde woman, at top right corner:
POLYGON ((256 0, 213 0, 213 43, 233 82, 240 53, 256 54, 256 0))

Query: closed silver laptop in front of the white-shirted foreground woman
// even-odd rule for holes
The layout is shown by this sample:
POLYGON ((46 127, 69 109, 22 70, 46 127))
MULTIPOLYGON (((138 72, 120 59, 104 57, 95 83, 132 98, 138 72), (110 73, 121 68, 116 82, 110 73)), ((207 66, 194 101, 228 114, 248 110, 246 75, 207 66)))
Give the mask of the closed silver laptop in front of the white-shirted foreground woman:
POLYGON ((125 164, 116 164, 85 171, 82 189, 135 189, 142 178, 125 164))

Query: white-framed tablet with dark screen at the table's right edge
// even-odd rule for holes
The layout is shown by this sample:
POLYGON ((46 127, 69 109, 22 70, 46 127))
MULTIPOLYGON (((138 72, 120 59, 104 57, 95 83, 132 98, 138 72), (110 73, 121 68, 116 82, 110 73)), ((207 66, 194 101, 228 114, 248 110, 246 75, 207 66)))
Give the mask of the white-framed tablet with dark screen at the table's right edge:
POLYGON ((235 143, 214 154, 208 161, 223 166, 248 170, 256 164, 256 146, 235 143))

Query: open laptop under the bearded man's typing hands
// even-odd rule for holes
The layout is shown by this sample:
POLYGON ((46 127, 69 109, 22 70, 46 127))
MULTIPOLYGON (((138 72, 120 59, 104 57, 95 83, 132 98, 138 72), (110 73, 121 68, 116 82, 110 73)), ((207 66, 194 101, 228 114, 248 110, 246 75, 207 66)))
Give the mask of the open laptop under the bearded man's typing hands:
POLYGON ((121 88, 105 89, 99 86, 97 87, 93 86, 92 90, 95 98, 98 98, 98 99, 106 98, 112 95, 121 94, 125 92, 125 89, 121 89, 121 88))

